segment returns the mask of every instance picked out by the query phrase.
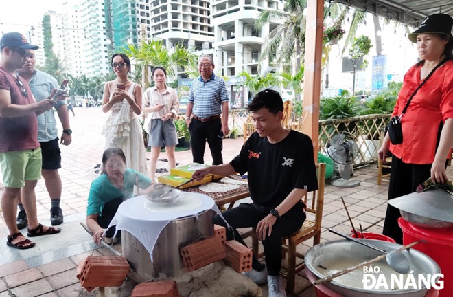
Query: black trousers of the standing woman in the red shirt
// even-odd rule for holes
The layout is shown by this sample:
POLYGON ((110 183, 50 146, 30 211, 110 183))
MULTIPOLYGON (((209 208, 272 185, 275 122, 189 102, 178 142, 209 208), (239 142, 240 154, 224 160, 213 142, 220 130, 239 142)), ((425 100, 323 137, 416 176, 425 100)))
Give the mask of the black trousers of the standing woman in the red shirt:
MULTIPOLYGON (((432 164, 406 164, 395 156, 392 157, 392 167, 390 171, 390 184, 388 186, 388 200, 401 197, 411 192, 419 184, 426 181, 431 176, 432 164)), ((403 243, 403 232, 397 223, 401 217, 399 209, 387 205, 387 212, 384 221, 384 231, 382 234, 395 239, 397 243, 403 243)))

